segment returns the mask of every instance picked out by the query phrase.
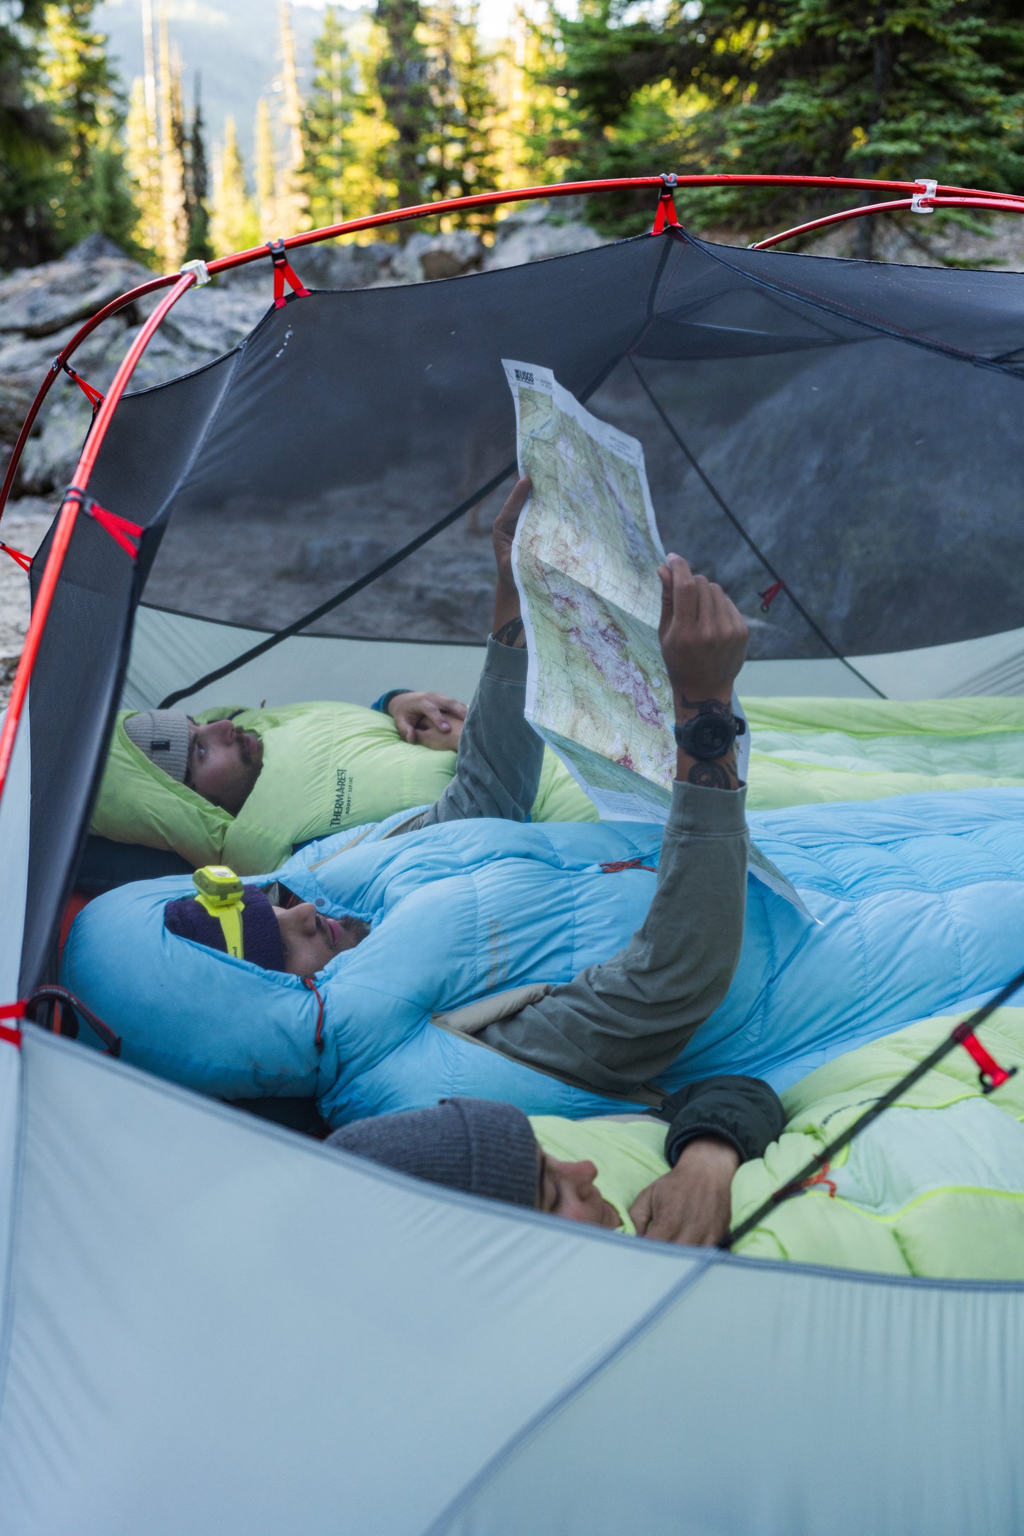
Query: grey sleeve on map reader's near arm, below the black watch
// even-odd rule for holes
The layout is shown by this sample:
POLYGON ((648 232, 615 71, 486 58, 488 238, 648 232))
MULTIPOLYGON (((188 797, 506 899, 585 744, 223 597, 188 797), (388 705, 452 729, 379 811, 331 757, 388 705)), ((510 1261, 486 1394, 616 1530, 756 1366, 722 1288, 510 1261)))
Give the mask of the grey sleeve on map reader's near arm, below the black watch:
POLYGON ((628 1095, 671 1066, 738 965, 745 799, 743 790, 676 783, 643 926, 611 960, 477 1038, 594 1092, 628 1095))

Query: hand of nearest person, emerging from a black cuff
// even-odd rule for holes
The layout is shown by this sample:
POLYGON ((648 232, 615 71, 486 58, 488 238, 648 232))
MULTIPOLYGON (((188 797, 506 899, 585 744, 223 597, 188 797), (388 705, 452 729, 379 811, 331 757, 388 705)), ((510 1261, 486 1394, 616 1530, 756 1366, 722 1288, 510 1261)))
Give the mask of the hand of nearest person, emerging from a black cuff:
POLYGON ((642 1189, 629 1220, 642 1238, 712 1247, 729 1230, 731 1189, 740 1158, 717 1137, 689 1141, 674 1169, 642 1189))

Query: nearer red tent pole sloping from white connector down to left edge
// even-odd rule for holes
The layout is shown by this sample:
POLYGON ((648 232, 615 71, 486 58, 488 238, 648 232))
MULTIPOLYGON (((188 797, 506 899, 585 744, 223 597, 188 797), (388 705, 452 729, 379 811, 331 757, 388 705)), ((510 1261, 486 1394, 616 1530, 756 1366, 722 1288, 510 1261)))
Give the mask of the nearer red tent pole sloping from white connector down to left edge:
POLYGON ((186 272, 180 273, 173 287, 160 301, 157 309, 152 312, 146 324, 141 327, 130 347, 121 359, 121 366, 114 375, 114 382, 106 392, 106 398, 97 412, 92 432, 81 450, 81 458, 78 459, 78 467, 75 468, 74 485, 75 492, 64 496, 64 502, 60 508, 60 516, 57 519, 57 528, 54 531, 54 542, 46 559, 46 567, 43 570, 43 578, 38 585, 38 593, 35 594, 35 602, 32 604, 32 619, 29 622, 28 634, 25 637, 25 650, 21 651, 21 659, 18 662, 18 670, 14 676, 14 687, 11 688, 11 703, 8 705, 8 713, 3 720, 3 731, 0 733, 0 799, 3 797, 3 790, 8 780, 8 770, 11 766, 11 756, 14 753, 14 742, 18 731, 18 723, 21 720, 21 711, 25 708, 25 699, 28 696, 29 682, 32 679, 32 668, 35 667, 35 657, 38 656, 40 642, 43 639, 43 630, 46 628, 46 619, 49 617, 49 608, 54 601, 54 591, 57 590, 57 582, 64 564, 64 556, 68 553, 68 545, 71 544, 71 536, 75 528, 75 521, 78 518, 78 510, 81 507, 81 495, 77 492, 84 492, 89 485, 89 476, 97 461, 97 453, 103 444, 103 439, 111 425, 117 404, 124 393, 127 381, 130 379, 138 359, 149 346, 154 333, 160 327, 164 315, 178 303, 183 293, 192 287, 195 283, 195 273, 186 272))

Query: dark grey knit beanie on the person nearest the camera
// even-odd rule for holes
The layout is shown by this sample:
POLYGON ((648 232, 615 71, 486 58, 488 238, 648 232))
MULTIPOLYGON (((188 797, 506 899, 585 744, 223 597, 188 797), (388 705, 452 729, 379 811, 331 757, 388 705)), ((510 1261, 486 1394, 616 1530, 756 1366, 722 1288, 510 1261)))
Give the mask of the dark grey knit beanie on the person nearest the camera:
POLYGON ((537 1204, 537 1141, 514 1104, 442 1098, 433 1109, 358 1120, 325 1144, 467 1195, 537 1204))

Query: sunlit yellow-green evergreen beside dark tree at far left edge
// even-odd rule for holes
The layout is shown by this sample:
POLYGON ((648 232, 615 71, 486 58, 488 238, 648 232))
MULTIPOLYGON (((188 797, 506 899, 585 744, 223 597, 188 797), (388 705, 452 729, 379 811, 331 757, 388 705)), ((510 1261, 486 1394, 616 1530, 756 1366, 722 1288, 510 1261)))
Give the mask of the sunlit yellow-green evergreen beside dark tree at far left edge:
POLYGON ((130 247, 138 210, 118 137, 123 97, 106 57, 106 37, 92 29, 94 9, 95 0, 60 0, 45 8, 41 92, 63 140, 51 220, 58 247, 92 230, 130 247))

